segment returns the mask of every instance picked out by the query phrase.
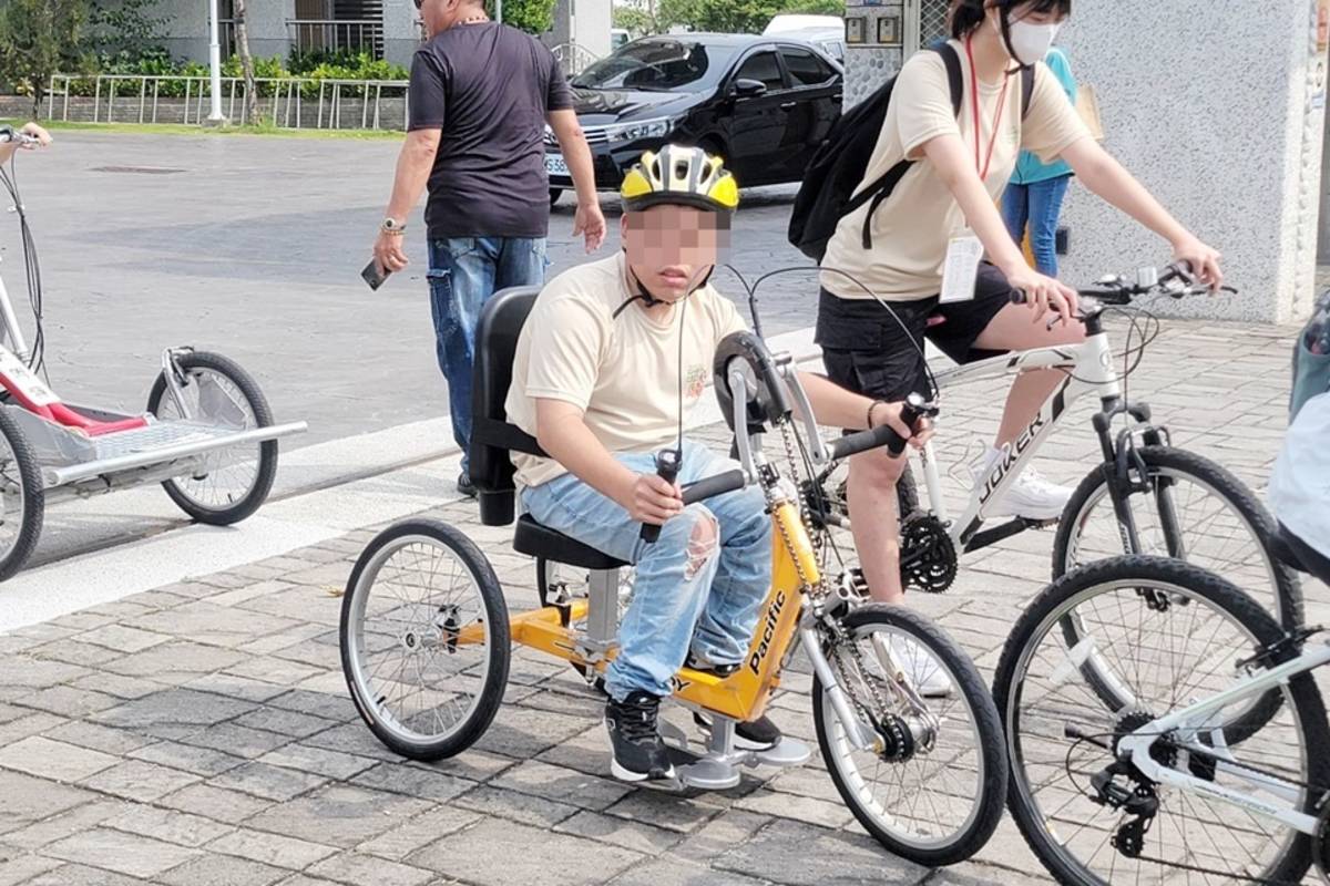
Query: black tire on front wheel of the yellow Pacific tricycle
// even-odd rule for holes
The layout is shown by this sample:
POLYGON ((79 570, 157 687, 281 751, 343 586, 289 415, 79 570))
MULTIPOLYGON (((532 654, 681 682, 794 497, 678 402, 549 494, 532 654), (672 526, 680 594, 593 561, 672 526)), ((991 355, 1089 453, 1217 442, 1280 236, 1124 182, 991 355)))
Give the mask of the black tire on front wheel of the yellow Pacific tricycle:
POLYGON ((956 695, 968 708, 974 721, 978 737, 976 765, 982 769, 982 774, 976 777, 978 793, 970 817, 944 843, 931 846, 910 842, 884 828, 851 784, 857 773, 843 770, 846 764, 838 752, 838 737, 833 733, 837 715, 823 692, 822 681, 814 676, 813 721, 822 758, 826 761, 831 781, 854 817, 887 850, 928 867, 962 862, 984 847, 1003 814, 1003 798, 1007 794, 1007 756, 998 709, 974 662, 936 624, 904 607, 882 603, 861 606, 842 620, 842 626, 851 634, 872 624, 891 627, 894 634, 908 636, 926 648, 934 662, 948 672, 954 687, 959 688, 956 695))

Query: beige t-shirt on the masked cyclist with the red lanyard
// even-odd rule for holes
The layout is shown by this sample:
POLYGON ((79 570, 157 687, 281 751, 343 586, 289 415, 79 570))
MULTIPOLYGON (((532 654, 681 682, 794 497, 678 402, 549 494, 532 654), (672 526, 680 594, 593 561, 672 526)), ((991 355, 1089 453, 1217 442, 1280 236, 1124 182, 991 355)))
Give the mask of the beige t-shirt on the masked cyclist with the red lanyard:
MULTIPOLYGON (((863 248, 863 219, 870 201, 841 219, 822 260, 823 268, 845 271, 887 300, 906 302, 936 295, 942 288, 947 244, 954 234, 966 227, 966 215, 955 197, 920 150, 924 142, 946 134, 960 135, 971 154, 975 149, 970 61, 960 43, 954 40, 951 45, 960 54, 966 84, 959 118, 951 108, 951 89, 942 56, 936 52, 915 53, 900 69, 863 181, 876 181, 907 157, 918 162, 874 213, 872 250, 863 248)), ((1040 61, 1035 72, 1035 94, 1024 124, 1020 118, 1020 77, 1011 77, 992 165, 984 179, 995 201, 1007 187, 1020 149, 1031 150, 1047 162, 1073 142, 1089 138, 1085 124, 1044 62, 1040 61)), ((980 165, 994 138, 1000 94, 1001 84, 979 84, 980 165)), ((845 276, 826 270, 822 286, 845 299, 868 298, 845 276)))

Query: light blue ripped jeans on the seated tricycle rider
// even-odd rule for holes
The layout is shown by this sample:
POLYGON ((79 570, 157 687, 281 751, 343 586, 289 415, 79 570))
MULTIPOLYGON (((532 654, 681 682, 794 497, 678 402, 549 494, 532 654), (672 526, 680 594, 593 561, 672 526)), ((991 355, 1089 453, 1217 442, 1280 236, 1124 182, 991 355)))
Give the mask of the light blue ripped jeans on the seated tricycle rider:
MULTIPOLYGON (((656 472, 649 453, 616 458, 633 472, 656 472)), ((685 441, 678 481, 732 468, 734 462, 685 441)), ((628 511, 572 474, 524 490, 521 501, 537 522, 637 565, 633 599, 618 626, 618 656, 605 672, 610 696, 670 695, 690 647, 712 664, 743 660, 771 580, 771 522, 758 487, 689 505, 661 527, 654 545, 641 541, 641 523, 628 511), (693 541, 708 521, 718 529, 718 547, 693 541)))

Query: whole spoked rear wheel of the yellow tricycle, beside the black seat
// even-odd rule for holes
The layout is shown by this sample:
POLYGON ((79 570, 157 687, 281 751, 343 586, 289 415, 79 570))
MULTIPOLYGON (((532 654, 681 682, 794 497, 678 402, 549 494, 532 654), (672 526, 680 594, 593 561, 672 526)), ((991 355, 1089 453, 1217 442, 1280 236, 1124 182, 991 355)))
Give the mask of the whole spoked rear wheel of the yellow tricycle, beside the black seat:
POLYGON ((466 535, 403 521, 356 561, 340 644, 351 699, 379 741, 412 760, 451 757, 484 735, 503 700, 508 606, 466 535))

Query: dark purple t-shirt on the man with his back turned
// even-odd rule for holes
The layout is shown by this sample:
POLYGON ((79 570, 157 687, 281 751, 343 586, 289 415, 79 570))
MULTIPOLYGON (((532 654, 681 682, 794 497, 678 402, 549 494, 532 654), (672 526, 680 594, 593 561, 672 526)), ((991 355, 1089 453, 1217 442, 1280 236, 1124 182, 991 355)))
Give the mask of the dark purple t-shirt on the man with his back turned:
POLYGON ((545 236, 545 114, 572 108, 549 49, 496 23, 454 25, 411 62, 410 129, 442 129, 424 219, 431 239, 545 236))

